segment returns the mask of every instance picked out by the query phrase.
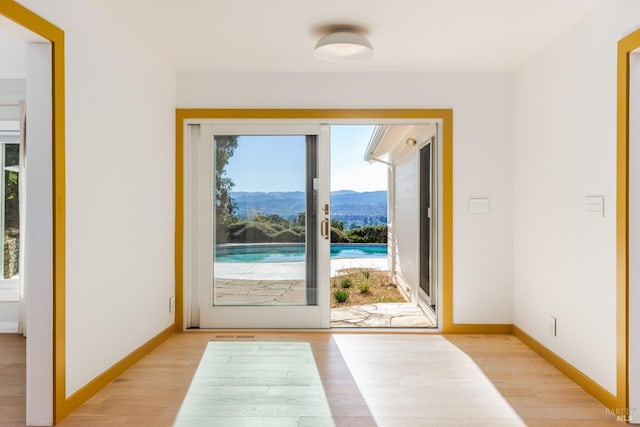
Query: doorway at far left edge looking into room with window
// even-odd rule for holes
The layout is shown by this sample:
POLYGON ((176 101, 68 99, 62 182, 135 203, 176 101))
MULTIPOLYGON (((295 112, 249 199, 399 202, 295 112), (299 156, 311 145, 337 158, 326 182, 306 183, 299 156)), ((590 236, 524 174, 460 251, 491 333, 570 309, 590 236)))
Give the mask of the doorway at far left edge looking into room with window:
MULTIPOLYGON (((13 12, 25 17, 19 8, 13 12)), ((54 205, 55 61, 51 41, 18 21, 0 17, 0 323, 27 338, 25 424, 48 425, 54 418, 54 214, 36 207, 54 205)))

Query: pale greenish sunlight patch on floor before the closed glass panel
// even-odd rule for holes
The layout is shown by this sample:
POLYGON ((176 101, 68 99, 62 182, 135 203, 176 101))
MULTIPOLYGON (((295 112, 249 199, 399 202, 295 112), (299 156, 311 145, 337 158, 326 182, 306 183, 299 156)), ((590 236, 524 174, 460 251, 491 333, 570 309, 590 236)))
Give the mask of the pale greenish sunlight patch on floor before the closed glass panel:
POLYGON ((174 426, 334 426, 311 346, 210 342, 174 426))

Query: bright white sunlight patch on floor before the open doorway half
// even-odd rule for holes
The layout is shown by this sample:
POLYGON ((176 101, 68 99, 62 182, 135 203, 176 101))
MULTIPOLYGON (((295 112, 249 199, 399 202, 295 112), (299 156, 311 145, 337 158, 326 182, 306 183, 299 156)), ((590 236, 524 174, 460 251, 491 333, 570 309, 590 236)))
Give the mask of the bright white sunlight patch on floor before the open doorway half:
POLYGON ((432 425, 430 420, 526 425, 474 361, 442 336, 336 334, 333 339, 379 426, 432 425), (375 347, 384 351, 371 351, 375 347))

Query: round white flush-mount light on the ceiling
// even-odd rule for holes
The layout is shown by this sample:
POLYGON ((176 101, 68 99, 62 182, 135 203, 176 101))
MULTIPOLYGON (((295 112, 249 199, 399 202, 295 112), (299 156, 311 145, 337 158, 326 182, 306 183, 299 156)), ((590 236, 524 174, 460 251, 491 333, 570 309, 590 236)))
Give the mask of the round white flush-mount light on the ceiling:
POLYGON ((316 44, 316 56, 326 61, 364 59, 372 53, 369 40, 350 28, 334 30, 316 44))

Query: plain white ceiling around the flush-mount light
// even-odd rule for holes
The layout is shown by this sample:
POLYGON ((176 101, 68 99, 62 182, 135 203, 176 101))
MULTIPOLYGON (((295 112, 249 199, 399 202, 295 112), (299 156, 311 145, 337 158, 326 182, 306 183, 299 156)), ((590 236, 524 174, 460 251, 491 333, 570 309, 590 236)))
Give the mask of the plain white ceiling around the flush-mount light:
POLYGON ((94 0, 178 70, 513 70, 603 0, 94 0), (371 58, 313 55, 322 27, 357 25, 371 58))

